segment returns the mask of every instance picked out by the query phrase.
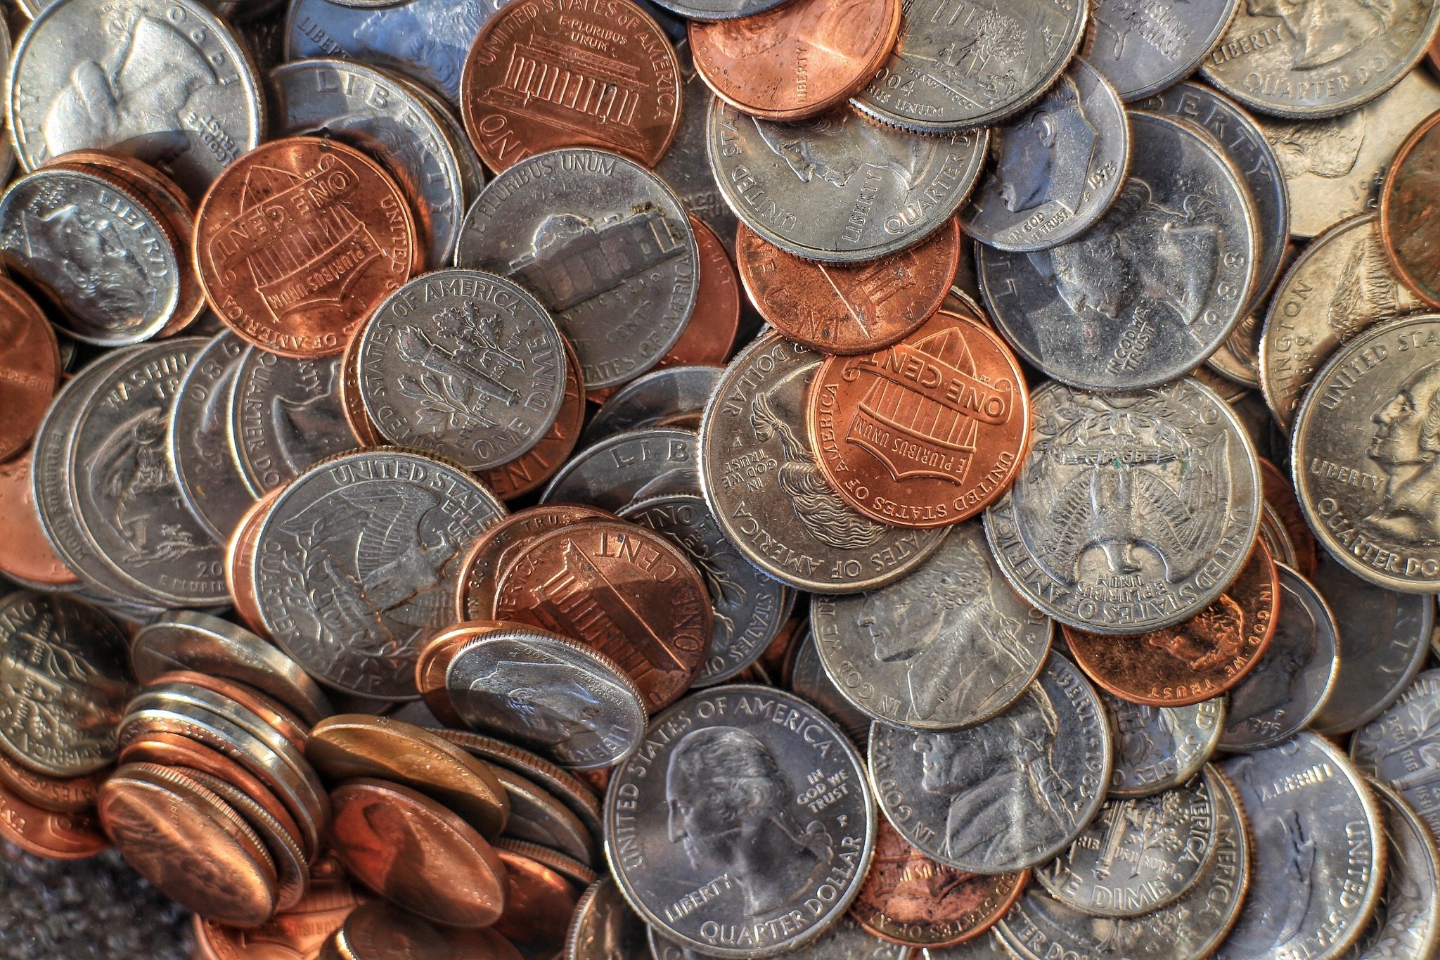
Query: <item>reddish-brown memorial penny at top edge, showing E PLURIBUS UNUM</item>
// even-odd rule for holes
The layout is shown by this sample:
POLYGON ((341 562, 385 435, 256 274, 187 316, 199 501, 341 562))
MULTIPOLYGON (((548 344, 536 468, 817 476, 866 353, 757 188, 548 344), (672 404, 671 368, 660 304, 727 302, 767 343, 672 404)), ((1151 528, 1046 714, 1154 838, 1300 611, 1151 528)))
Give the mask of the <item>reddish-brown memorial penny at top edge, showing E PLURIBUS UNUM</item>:
POLYGON ((557 147, 654 167, 680 128, 680 62, 629 0, 521 0, 492 14, 469 47, 459 101, 491 170, 557 147))

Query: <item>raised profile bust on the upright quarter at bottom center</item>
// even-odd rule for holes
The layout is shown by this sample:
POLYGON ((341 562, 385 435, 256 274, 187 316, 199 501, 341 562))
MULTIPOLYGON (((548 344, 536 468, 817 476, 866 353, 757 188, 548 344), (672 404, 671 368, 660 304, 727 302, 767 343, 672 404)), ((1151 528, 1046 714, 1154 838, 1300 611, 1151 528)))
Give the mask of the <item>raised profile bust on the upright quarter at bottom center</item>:
POLYGON ((737 727, 685 734, 665 771, 670 842, 706 879, 729 874, 744 918, 786 907, 834 858, 818 822, 795 819, 795 786, 769 748, 737 727))

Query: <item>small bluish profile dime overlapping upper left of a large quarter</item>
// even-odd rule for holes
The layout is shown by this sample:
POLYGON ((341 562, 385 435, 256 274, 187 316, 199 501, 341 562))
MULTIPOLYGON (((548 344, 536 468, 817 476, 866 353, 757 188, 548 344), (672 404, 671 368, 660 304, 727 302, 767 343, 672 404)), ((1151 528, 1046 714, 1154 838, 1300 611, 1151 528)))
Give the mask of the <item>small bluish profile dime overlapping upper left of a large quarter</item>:
POLYGON ((1076 58, 1025 114, 995 134, 995 166, 960 216, 965 232, 1001 250, 1076 239, 1115 201, 1130 167, 1125 104, 1076 58))

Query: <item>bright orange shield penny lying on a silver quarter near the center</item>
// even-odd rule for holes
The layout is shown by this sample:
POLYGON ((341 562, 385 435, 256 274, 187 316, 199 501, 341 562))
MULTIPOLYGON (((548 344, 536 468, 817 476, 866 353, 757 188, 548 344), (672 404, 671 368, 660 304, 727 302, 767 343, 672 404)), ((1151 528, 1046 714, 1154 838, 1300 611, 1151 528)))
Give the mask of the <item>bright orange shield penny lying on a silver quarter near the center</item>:
POLYGON ((1015 354, 946 311, 884 350, 825 360, 805 420, 831 488, 897 527, 973 517, 1009 488, 1030 448, 1015 354))

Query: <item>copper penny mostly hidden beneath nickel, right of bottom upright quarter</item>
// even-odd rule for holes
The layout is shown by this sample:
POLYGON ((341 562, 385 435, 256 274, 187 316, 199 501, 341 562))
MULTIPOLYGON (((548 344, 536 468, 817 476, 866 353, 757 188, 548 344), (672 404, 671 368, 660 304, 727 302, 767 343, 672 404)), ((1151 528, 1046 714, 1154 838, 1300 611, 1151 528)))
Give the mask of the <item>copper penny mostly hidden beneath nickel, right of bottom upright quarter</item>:
POLYGON ((881 818, 876 856, 850 907, 861 927, 910 947, 953 947, 995 925, 1030 871, 966 874, 930 859, 881 818))

